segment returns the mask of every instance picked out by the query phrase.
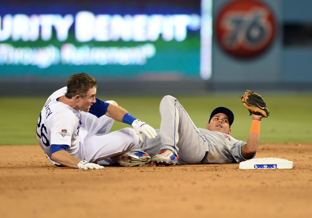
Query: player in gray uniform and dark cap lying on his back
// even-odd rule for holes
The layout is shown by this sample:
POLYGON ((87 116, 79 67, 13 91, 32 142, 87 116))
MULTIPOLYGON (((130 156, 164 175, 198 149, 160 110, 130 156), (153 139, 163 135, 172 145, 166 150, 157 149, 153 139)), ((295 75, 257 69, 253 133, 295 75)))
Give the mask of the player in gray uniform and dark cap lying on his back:
POLYGON ((133 149, 144 150, 156 165, 239 163, 256 155, 261 115, 251 114, 251 131, 243 142, 229 135, 234 115, 228 108, 214 109, 207 129, 196 127, 175 97, 163 97, 159 110, 162 120, 156 139, 144 136, 133 149))

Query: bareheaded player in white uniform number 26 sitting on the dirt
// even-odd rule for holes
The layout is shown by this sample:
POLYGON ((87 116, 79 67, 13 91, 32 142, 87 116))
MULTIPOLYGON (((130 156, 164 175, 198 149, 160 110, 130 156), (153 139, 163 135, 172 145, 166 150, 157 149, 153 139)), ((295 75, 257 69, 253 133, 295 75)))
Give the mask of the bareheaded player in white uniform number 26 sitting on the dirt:
POLYGON ((37 139, 47 158, 57 166, 101 169, 117 163, 123 154, 124 166, 148 166, 144 152, 129 152, 144 133, 153 139, 153 127, 142 122, 114 101, 95 98, 96 80, 86 73, 71 75, 67 85, 48 97, 37 122, 37 139), (113 121, 128 123, 109 133, 113 121))

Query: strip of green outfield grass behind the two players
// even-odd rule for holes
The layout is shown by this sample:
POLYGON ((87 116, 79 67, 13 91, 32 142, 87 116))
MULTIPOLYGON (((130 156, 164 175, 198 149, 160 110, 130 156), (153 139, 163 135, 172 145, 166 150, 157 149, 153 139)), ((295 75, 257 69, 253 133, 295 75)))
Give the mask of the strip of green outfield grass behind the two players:
MULTIPOLYGON (((0 97, 0 145, 37 145, 36 124, 46 97, 0 97)), ((159 102, 162 96, 97 96, 115 100, 133 116, 155 129, 160 127, 159 102)), ((239 95, 175 96, 195 125, 205 128, 210 112, 219 106, 232 109, 235 120, 231 135, 246 141, 251 116, 239 95)), ((312 95, 266 95, 270 116, 261 122, 261 143, 311 142, 312 95)), ((129 125, 115 122, 112 131, 129 125)))

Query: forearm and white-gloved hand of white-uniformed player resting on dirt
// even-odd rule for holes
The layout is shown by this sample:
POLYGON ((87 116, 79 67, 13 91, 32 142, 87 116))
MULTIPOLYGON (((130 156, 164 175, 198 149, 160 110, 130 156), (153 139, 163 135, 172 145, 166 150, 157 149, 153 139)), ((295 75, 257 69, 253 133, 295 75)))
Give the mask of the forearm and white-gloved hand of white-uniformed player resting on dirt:
POLYGON ((85 160, 80 160, 70 155, 66 150, 59 150, 51 154, 51 160, 71 168, 79 169, 102 169, 99 164, 89 163, 85 160))

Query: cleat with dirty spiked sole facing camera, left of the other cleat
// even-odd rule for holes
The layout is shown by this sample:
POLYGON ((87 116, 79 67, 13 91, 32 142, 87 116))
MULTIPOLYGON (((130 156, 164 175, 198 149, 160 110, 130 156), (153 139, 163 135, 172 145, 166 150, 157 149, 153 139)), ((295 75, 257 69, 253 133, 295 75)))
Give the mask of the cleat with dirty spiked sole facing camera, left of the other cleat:
POLYGON ((119 155, 116 159, 117 162, 124 167, 147 167, 149 164, 151 164, 152 158, 142 152, 128 152, 119 155))

